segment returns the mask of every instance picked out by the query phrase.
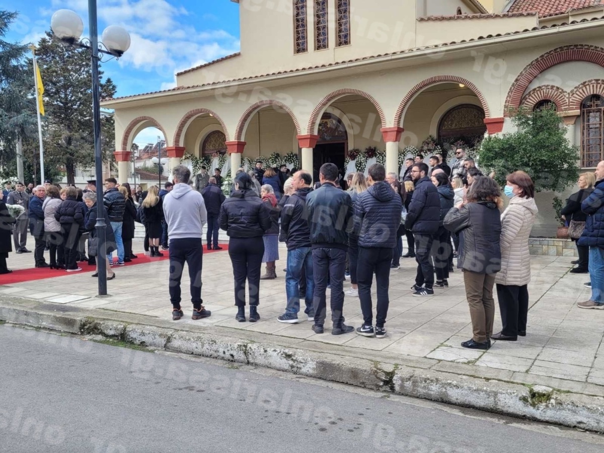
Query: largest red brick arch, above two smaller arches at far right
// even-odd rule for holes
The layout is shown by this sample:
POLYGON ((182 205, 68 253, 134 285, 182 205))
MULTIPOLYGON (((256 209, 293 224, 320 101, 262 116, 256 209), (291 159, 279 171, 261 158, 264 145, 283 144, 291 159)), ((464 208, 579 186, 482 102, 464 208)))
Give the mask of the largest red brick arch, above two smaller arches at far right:
POLYGON ((524 95, 528 85, 541 72, 560 63, 572 61, 595 63, 596 65, 604 66, 604 48, 582 44, 562 46, 550 50, 528 63, 512 83, 510 91, 507 94, 504 115, 506 117, 513 115, 513 112, 520 106, 522 95, 524 95))

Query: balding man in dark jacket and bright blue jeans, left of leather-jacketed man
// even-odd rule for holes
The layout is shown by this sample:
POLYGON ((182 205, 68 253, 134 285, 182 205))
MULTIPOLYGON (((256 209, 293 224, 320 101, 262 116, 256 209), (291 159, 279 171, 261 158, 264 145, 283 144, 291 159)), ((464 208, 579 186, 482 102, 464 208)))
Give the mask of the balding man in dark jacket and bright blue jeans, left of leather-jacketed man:
POLYGON ((296 172, 292 177, 292 187, 296 192, 288 198, 281 211, 281 231, 285 235, 285 242, 288 245, 288 273, 285 277, 288 305, 285 313, 277 318, 280 323, 296 324, 300 322, 298 312, 300 311, 300 283, 303 275, 306 280, 304 297, 306 309, 304 313, 308 316, 309 321, 315 320, 315 311, 312 305, 315 282, 313 280, 312 248, 310 248, 310 229, 306 210, 306 196, 312 190, 310 184, 312 184, 310 173, 304 170, 296 172))

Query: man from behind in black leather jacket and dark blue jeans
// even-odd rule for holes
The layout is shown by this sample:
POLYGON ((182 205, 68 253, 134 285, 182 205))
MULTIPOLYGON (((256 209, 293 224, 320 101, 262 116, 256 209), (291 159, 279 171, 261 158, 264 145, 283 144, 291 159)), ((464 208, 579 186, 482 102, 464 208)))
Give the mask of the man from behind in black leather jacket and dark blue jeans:
POLYGON ((321 186, 306 197, 312 262, 315 280, 313 307, 315 324, 312 330, 323 333, 326 318, 327 281, 332 288, 332 335, 354 332, 344 324, 344 268, 348 249, 348 234, 352 231, 352 199, 339 188, 338 167, 323 164, 319 170, 321 186))

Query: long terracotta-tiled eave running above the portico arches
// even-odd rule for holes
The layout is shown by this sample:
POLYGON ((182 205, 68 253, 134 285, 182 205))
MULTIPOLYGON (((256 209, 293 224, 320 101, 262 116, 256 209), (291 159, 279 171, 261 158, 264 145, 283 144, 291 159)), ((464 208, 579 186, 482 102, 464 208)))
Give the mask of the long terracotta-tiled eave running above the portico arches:
POLYGON ((102 101, 112 101, 112 100, 121 100, 121 99, 127 99, 127 98, 137 98, 137 97, 141 97, 141 96, 147 96, 147 95, 150 95, 150 94, 160 94, 160 93, 163 94, 163 93, 169 93, 169 92, 172 92, 172 91, 179 91, 179 90, 185 90, 185 89, 205 88, 207 86, 220 85, 222 83, 243 82, 243 81, 246 81, 246 80, 260 79, 262 77, 278 76, 280 74, 292 74, 294 72, 310 71, 312 69, 331 68, 333 66, 345 65, 347 63, 361 62, 361 61, 364 61, 364 60, 370 60, 370 59, 379 58, 379 57, 388 57, 388 56, 402 55, 402 54, 406 54, 406 53, 410 53, 410 52, 418 51, 418 50, 427 50, 427 49, 435 49, 435 48, 446 48, 446 47, 448 47, 450 45, 460 44, 460 43, 464 43, 464 42, 475 42, 475 41, 480 41, 480 40, 483 40, 483 39, 490 39, 490 38, 493 38, 493 37, 511 36, 513 34, 530 33, 532 31, 546 30, 548 28, 556 28, 556 27, 562 27, 564 25, 580 24, 580 23, 583 23, 583 22, 601 21, 603 19, 604 19, 604 16, 599 16, 597 18, 582 19, 580 21, 570 21, 568 23, 567 22, 561 22, 561 23, 558 23, 558 24, 543 25, 542 27, 533 27, 533 28, 530 28, 530 29, 527 28, 526 30, 510 31, 508 33, 487 34, 486 36, 478 36, 477 38, 472 38, 472 39, 462 39, 460 41, 452 41, 452 42, 447 42, 447 43, 443 43, 443 44, 429 45, 429 46, 423 46, 423 47, 415 47, 415 48, 406 49, 406 50, 397 51, 397 52, 392 52, 392 53, 384 53, 384 54, 378 54, 378 55, 371 55, 371 56, 368 56, 368 57, 360 57, 360 58, 356 58, 356 59, 353 59, 353 60, 346 60, 346 61, 335 62, 335 63, 327 63, 327 64, 324 64, 324 65, 318 65, 318 66, 309 66, 307 68, 298 68, 298 69, 289 69, 289 70, 286 70, 286 71, 271 72, 270 74, 260 74, 259 76, 240 77, 239 79, 231 79, 231 80, 220 80, 219 82, 204 83, 203 85, 177 86, 176 88, 167 89, 167 90, 164 90, 164 91, 152 91, 152 92, 149 92, 149 93, 135 94, 135 95, 132 95, 132 96, 123 96, 123 97, 117 97, 117 98, 106 98, 106 99, 103 99, 102 101))

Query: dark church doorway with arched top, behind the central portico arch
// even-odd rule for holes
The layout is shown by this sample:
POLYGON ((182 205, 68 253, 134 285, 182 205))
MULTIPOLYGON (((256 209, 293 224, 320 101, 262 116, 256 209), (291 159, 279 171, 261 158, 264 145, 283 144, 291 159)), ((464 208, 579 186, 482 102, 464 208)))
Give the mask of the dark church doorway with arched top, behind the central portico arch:
POLYGON ((335 164, 338 169, 343 168, 348 150, 348 132, 342 120, 332 113, 324 113, 318 122, 318 135, 312 156, 315 176, 321 165, 328 162, 335 164))

